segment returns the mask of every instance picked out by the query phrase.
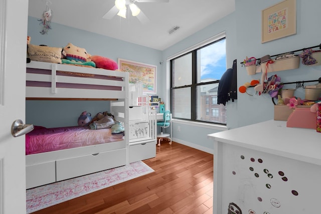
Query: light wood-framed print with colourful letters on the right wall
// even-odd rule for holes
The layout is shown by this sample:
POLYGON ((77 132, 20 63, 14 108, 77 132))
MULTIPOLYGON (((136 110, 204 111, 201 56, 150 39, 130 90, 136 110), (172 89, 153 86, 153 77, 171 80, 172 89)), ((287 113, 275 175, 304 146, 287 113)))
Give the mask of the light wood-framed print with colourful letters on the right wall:
POLYGON ((261 43, 296 34, 296 0, 285 0, 262 11, 261 43))

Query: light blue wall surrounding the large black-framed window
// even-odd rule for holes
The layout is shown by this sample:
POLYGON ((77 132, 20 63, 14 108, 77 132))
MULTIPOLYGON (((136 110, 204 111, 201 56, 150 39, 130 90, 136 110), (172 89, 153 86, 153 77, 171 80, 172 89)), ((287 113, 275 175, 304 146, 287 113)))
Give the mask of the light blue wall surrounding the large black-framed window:
MULTIPOLYGON (((226 60, 227 60, 227 68, 232 68, 233 60, 237 59, 237 44, 236 44, 236 17, 235 13, 221 19, 219 22, 216 22, 209 27, 197 32, 196 34, 188 37, 187 39, 177 43, 176 45, 168 48, 163 52, 163 60, 164 62, 171 56, 175 55, 192 47, 195 44, 198 44, 208 38, 211 38, 223 31, 226 33, 226 60)), ((162 81, 169 80, 169 76, 166 76, 166 70, 163 72, 162 81)), ((164 84, 164 83, 163 83, 164 84)), ((163 94, 166 94, 166 89, 163 88, 163 94)), ((227 123, 228 126, 237 126, 237 101, 232 102, 229 101, 227 106, 227 123)), ((218 132, 220 130, 216 130, 213 128, 206 128, 204 126, 199 125, 187 125, 176 123, 173 121, 173 139, 176 142, 180 142, 182 144, 186 144, 195 148, 198 148, 203 151, 213 152, 213 140, 207 137, 208 134, 212 134, 218 132), (180 126, 180 130, 178 131, 180 126)))

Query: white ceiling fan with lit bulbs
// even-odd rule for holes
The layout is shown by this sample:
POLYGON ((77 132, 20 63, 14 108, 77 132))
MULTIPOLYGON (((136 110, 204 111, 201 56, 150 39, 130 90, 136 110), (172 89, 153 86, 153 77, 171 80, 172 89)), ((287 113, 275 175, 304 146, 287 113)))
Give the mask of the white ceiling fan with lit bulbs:
POLYGON ((115 15, 118 15, 126 19, 127 6, 131 11, 133 17, 141 23, 148 22, 148 18, 142 13, 142 11, 135 5, 137 3, 168 3, 170 0, 115 0, 115 5, 112 7, 102 18, 111 20, 115 15))

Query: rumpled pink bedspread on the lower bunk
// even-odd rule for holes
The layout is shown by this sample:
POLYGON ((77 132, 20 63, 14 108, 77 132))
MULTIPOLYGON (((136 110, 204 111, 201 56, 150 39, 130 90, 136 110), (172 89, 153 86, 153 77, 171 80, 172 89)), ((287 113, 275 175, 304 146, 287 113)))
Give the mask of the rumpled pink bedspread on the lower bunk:
POLYGON ((123 134, 111 134, 110 128, 91 130, 88 126, 35 126, 35 129, 26 135, 26 155, 120 140, 123 140, 123 134))

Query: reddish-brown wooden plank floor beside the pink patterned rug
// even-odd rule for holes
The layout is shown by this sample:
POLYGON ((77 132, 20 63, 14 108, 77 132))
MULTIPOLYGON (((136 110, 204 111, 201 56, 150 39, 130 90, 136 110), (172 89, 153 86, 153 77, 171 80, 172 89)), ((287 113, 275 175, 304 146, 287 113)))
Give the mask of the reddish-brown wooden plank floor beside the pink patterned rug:
POLYGON ((213 213, 213 155, 162 142, 154 172, 39 210, 40 213, 213 213))

